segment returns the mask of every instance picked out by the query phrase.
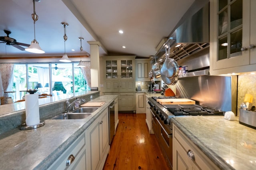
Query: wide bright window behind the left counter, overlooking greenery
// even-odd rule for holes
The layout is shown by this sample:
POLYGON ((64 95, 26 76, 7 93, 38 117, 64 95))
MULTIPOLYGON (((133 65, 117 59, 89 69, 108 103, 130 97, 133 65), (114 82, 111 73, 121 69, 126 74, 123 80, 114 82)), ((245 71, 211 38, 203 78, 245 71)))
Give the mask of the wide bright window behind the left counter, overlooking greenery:
POLYGON ((86 80, 77 64, 14 64, 13 91, 16 91, 16 100, 22 99, 27 88, 36 88, 40 94, 53 96, 87 91, 86 80))

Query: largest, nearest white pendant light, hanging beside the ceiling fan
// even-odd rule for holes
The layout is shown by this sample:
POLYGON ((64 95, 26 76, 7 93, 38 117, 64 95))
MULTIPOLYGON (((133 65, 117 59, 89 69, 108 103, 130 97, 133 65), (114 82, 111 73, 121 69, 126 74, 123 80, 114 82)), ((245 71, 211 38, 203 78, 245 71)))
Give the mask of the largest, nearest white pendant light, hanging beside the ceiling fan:
MULTIPOLYGON (((40 1, 38 1, 40 2, 40 1)), ((30 52, 30 53, 45 53, 39 46, 38 42, 36 41, 36 29, 35 29, 35 24, 36 21, 38 20, 38 15, 36 14, 36 10, 35 10, 35 0, 33 0, 33 5, 34 5, 34 13, 31 14, 32 19, 34 20, 34 40, 31 42, 31 45, 26 48, 25 50, 30 52)))

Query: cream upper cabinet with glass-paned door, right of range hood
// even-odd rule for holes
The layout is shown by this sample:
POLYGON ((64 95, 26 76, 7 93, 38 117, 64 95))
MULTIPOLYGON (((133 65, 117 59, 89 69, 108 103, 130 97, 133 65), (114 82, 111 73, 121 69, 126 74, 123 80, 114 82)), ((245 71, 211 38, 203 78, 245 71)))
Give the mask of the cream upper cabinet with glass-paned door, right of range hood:
POLYGON ((210 74, 255 71, 254 0, 210 0, 210 74))

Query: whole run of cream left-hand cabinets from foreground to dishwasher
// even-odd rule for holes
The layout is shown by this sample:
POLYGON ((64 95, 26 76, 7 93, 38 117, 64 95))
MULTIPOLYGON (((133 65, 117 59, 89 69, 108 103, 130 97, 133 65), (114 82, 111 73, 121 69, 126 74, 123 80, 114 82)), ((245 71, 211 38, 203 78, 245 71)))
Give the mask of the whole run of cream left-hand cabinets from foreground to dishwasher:
POLYGON ((110 150, 108 141, 106 109, 48 170, 102 170, 110 150))

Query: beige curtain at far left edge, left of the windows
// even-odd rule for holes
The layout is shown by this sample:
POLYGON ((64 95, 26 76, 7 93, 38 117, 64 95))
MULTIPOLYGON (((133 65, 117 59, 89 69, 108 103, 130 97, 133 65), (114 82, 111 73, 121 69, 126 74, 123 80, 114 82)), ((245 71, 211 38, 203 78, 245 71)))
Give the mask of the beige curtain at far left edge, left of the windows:
POLYGON ((4 96, 4 92, 6 91, 12 91, 13 68, 14 68, 14 64, 10 64, 10 63, 0 64, 0 76, 2 79, 2 83, 0 84, 0 96, 4 96))

